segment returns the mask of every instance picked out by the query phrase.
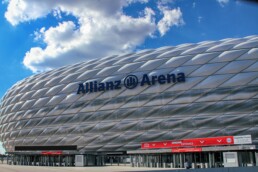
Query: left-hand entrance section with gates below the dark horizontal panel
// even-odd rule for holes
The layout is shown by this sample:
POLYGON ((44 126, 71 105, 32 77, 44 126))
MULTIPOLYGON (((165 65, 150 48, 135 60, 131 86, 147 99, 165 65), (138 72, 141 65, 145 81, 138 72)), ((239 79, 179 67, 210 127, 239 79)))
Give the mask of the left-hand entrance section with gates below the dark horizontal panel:
POLYGON ((29 166, 119 166, 130 165, 126 154, 78 154, 74 152, 15 152, 7 156, 7 164, 29 166))

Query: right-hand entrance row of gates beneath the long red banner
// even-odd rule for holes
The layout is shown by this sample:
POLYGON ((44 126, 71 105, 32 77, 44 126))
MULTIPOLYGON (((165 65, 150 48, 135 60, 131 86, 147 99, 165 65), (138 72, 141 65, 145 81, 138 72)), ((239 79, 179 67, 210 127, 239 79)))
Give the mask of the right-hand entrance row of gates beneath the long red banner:
POLYGON ((133 167, 185 168, 187 162, 191 168, 230 167, 228 164, 232 162, 235 164, 234 167, 258 166, 258 152, 252 150, 187 153, 136 153, 130 151, 128 153, 131 154, 131 166, 133 167), (233 157, 232 153, 235 153, 236 157, 233 157))

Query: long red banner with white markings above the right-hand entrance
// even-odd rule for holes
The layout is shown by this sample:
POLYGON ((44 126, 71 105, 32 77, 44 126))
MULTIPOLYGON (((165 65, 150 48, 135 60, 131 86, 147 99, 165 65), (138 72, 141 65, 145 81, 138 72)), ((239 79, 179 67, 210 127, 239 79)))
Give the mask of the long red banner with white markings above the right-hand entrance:
POLYGON ((233 145, 234 136, 220 136, 210 138, 193 138, 182 140, 168 140, 160 142, 143 142, 142 149, 157 149, 157 148, 176 148, 176 147, 201 147, 201 146, 218 146, 218 145, 233 145))

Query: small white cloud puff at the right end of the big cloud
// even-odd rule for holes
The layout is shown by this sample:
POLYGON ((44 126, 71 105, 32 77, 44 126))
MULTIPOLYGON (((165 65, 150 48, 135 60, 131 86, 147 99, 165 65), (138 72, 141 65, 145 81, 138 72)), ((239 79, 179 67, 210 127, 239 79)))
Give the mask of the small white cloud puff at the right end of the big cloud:
POLYGON ((164 36, 172 26, 180 26, 184 24, 180 8, 172 10, 167 8, 161 9, 164 15, 163 18, 158 22, 158 30, 161 36, 164 36))

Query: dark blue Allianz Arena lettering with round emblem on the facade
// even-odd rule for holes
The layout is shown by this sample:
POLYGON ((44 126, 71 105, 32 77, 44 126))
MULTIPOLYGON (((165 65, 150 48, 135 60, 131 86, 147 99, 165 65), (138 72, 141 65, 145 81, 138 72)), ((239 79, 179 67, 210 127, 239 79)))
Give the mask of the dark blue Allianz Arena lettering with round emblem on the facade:
POLYGON ((91 81, 86 83, 79 83, 77 94, 86 94, 100 91, 118 90, 122 87, 126 89, 134 89, 137 86, 151 86, 156 84, 170 84, 185 82, 185 74, 166 74, 166 75, 153 75, 143 74, 141 80, 136 75, 128 75, 123 80, 97 82, 91 81))

